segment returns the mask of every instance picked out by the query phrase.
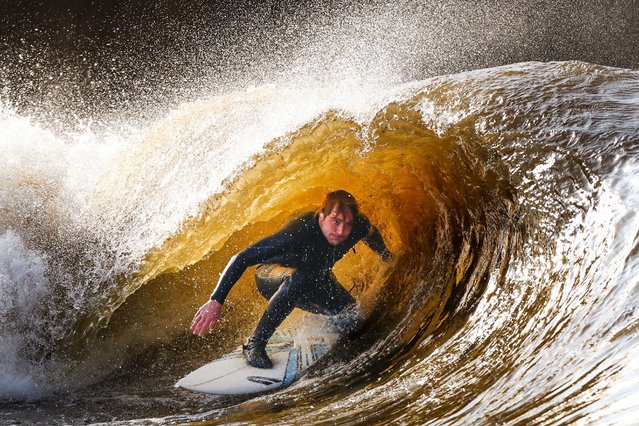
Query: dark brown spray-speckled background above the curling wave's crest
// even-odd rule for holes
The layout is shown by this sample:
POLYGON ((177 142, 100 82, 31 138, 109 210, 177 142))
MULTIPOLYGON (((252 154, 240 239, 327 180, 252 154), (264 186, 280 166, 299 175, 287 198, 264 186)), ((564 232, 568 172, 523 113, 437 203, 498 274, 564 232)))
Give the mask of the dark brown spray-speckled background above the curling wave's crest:
POLYGON ((394 81, 523 61, 637 68, 638 23, 636 0, 0 0, 0 99, 126 120, 282 81, 293 65, 394 81))

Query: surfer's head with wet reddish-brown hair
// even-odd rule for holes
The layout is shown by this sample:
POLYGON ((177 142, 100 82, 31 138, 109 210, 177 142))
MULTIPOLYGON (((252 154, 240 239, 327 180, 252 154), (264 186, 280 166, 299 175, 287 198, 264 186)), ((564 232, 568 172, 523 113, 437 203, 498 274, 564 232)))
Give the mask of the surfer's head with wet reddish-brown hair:
POLYGON ((355 197, 342 190, 329 192, 319 211, 319 224, 326 240, 332 245, 346 240, 358 214, 355 197))

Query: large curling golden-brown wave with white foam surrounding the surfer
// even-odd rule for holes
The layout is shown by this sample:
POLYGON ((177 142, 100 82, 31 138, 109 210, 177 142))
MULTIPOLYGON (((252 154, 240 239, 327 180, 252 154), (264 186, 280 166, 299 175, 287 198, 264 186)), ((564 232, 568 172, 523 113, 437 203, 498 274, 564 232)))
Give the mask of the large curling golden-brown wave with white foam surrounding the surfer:
POLYGON ((261 86, 143 129, 60 134, 5 106, 2 398, 72 401, 47 411, 67 420, 99 401, 160 422, 629 422, 637 93, 636 71, 555 62, 261 86), (247 273, 219 329, 188 334, 229 256, 338 188, 395 253, 336 266, 367 333, 276 394, 173 390, 264 307, 247 273))

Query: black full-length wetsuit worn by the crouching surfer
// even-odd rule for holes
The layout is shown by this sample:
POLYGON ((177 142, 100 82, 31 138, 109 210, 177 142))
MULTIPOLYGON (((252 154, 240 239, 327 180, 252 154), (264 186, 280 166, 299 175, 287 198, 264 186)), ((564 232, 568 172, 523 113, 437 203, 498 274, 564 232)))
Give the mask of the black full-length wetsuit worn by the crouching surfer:
POLYGON ((233 256, 211 299, 224 303, 244 271, 262 264, 255 271, 256 283, 269 304, 250 340, 253 344, 266 345, 295 307, 336 315, 355 304, 355 299, 339 284, 331 269, 360 240, 382 258, 390 258, 381 234, 365 216, 359 215, 348 238, 334 246, 324 237, 318 214, 305 213, 233 256))

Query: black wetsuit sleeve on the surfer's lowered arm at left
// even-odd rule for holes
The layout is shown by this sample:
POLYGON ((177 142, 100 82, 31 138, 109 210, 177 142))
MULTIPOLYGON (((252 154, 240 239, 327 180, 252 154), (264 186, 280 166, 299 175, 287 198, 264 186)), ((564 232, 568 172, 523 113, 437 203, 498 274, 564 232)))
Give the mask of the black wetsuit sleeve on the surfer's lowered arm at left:
POLYGON ((263 263, 271 257, 287 250, 294 243, 294 232, 289 227, 276 232, 270 237, 264 238, 249 246, 244 251, 231 257, 217 282, 211 299, 224 304, 231 288, 240 279, 247 268, 258 263, 263 263))

